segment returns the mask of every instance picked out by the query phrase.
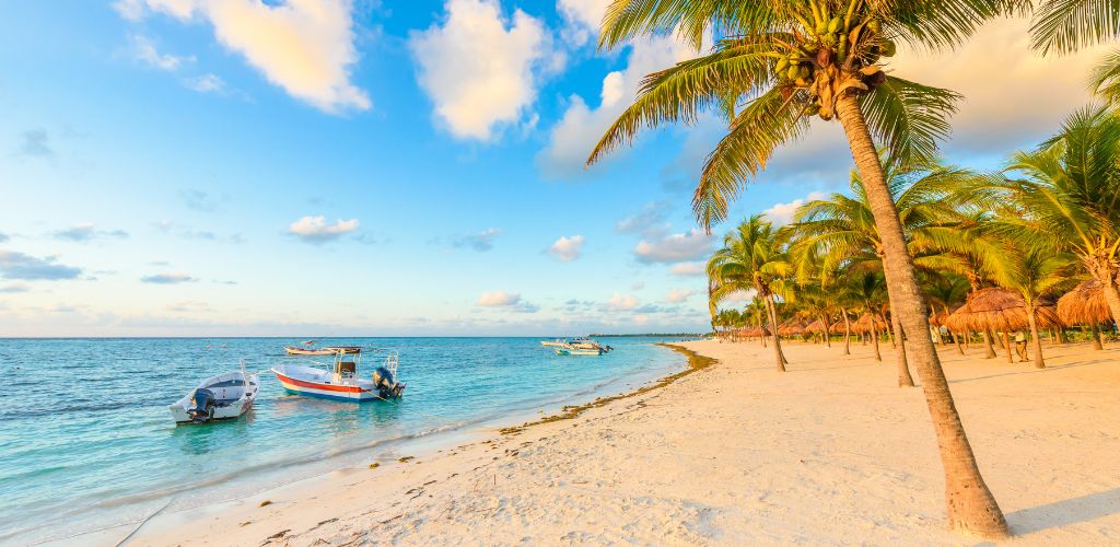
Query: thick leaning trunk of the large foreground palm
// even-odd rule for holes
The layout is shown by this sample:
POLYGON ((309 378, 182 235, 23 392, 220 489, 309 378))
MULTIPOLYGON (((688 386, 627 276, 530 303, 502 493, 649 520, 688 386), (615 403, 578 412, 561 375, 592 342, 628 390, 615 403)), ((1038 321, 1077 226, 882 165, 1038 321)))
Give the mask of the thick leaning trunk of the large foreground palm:
MULTIPOLYGON (((904 328, 923 332, 928 327, 922 293, 914 277, 914 265, 906 249, 906 239, 898 220, 883 165, 867 129, 867 121, 859 110, 855 94, 844 93, 837 101, 837 114, 851 147, 852 158, 859 170, 875 216, 875 224, 883 238, 884 269, 890 271, 888 293, 894 293, 895 309, 904 328)), ((933 341, 918 336, 913 343, 913 354, 922 389, 925 392, 930 418, 937 436, 941 464, 945 473, 945 512, 951 528, 987 538, 1007 536, 1007 520, 996 498, 980 475, 976 455, 969 444, 964 425, 956 412, 949 381, 941 369, 933 341)))

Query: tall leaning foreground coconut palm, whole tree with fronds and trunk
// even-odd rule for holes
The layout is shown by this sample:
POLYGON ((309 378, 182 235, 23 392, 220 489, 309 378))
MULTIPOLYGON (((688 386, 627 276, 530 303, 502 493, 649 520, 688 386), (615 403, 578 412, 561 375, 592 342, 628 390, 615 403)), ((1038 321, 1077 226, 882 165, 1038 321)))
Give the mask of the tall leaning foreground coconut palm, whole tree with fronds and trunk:
MULTIPOLYGON (((704 226, 727 216, 728 202, 763 169, 778 146, 809 130, 810 118, 843 127, 883 235, 894 310, 905 331, 927 327, 926 309, 906 252, 876 140, 904 163, 928 160, 949 131, 951 91, 888 76, 896 43, 950 48, 1006 0, 615 0, 599 35, 613 48, 648 34, 675 33, 697 49, 715 30, 715 49, 646 77, 635 102, 596 145, 589 163, 644 127, 692 122, 721 112, 727 136, 708 157, 693 200, 704 226)), ((928 336, 913 340, 945 471, 951 527, 987 537, 1007 522, 977 467, 972 447, 928 336)))

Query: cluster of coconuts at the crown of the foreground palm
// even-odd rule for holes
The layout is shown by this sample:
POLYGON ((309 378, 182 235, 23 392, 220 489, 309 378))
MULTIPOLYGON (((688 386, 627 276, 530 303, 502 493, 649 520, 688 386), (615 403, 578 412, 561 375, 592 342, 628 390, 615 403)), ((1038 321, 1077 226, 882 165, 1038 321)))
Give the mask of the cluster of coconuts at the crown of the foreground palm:
POLYGON ((813 10, 813 21, 794 29, 794 43, 774 65, 774 74, 787 94, 809 92, 804 114, 828 120, 842 93, 867 92, 886 80, 877 65, 895 54, 895 43, 883 34, 879 20, 866 17, 828 17, 827 7, 813 10), (815 21, 815 22, 814 22, 815 21))

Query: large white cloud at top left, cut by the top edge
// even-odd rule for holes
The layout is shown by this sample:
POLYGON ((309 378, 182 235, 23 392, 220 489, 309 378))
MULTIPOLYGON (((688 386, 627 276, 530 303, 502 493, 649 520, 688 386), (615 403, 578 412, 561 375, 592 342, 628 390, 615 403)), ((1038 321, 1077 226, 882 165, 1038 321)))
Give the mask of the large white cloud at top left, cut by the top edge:
POLYGON ((242 55, 290 95, 327 111, 367 110, 370 98, 351 83, 357 63, 352 0, 121 0, 122 17, 139 20, 146 10, 214 26, 214 36, 242 55))

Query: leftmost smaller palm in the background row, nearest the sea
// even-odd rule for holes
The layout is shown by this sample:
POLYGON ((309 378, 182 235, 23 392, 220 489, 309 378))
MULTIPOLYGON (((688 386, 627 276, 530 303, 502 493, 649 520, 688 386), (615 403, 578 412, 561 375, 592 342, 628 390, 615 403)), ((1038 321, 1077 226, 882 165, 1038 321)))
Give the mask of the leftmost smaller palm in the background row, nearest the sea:
POLYGON ((764 215, 754 215, 739 224, 724 238, 724 247, 708 260, 711 298, 719 302, 724 297, 754 289, 766 304, 771 333, 774 335, 774 360, 777 370, 785 371, 785 355, 777 335, 777 312, 774 307, 775 293, 783 294, 783 276, 792 272, 784 249, 774 238, 774 228, 764 215))

